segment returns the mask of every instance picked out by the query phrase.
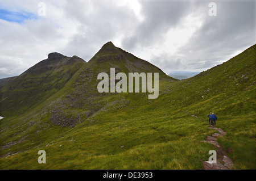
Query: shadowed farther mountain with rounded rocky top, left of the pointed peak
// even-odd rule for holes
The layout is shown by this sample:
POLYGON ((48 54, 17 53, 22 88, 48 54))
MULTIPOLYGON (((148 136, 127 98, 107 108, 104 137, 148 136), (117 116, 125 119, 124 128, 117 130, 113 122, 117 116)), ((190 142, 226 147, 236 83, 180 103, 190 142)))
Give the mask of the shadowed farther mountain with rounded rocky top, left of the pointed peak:
POLYGON ((86 64, 79 57, 50 53, 24 73, 2 81, 1 114, 11 116, 23 113, 60 90, 72 75, 86 64))

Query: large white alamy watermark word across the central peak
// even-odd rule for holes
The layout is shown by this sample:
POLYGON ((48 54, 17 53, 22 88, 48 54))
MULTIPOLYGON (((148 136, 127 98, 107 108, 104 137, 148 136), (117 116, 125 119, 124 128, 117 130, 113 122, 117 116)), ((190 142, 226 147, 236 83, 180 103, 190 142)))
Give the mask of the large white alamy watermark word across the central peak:
POLYGON ((148 99, 156 99, 159 95, 159 73, 154 73, 154 87, 152 87, 152 73, 129 73, 128 82, 127 75, 119 72, 115 75, 115 68, 110 68, 110 90, 109 90, 109 75, 105 72, 98 74, 97 79, 103 80, 98 83, 98 92, 149 92, 148 99), (121 79, 122 78, 122 79, 121 79), (118 81, 115 84, 115 81, 118 81), (134 81, 135 80, 135 81, 134 81), (140 81, 142 80, 142 81, 140 81), (129 87, 127 90, 127 86, 129 87), (135 88, 135 90, 134 90, 135 88))

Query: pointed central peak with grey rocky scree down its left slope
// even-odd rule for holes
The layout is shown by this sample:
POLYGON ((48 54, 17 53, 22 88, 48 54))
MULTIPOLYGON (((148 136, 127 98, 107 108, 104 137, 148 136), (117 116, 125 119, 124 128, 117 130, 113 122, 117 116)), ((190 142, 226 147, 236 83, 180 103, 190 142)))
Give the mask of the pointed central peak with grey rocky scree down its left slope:
POLYGON ((98 92, 97 85, 100 80, 97 79, 97 76, 101 72, 110 75, 110 68, 115 68, 115 74, 119 72, 126 73, 126 75, 129 72, 159 73, 159 79, 175 80, 163 73, 158 67, 115 47, 112 42, 108 42, 86 65, 77 71, 72 79, 73 89, 66 87, 68 90, 65 91, 65 96, 56 100, 56 103, 50 108, 52 123, 73 127, 84 121, 84 117, 91 117, 113 102, 115 102, 113 104, 121 104, 121 107, 129 105, 129 101, 126 99, 118 100, 118 102, 117 100, 109 100, 112 95, 118 94, 116 92, 104 94, 98 92))

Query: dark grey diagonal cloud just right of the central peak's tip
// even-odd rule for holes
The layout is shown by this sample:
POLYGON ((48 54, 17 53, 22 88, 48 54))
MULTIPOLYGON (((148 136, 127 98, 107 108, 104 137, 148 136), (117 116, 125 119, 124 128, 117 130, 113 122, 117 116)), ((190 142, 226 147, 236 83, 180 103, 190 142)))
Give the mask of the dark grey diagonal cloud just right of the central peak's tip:
POLYGON ((186 1, 141 1, 144 20, 133 35, 122 40, 122 47, 133 50, 147 47, 164 39, 170 27, 175 27, 186 14, 186 1))

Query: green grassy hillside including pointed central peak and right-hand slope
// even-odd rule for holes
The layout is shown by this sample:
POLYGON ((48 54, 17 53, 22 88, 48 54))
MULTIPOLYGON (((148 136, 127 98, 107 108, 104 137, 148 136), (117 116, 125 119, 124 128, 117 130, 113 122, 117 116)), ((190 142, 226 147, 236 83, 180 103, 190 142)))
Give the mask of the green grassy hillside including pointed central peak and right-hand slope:
POLYGON ((209 112, 227 132, 218 142, 233 169, 256 168, 256 45, 189 79, 160 75, 158 99, 147 93, 98 93, 97 73, 113 66, 161 73, 126 53, 106 44, 54 95, 1 120, 0 168, 203 169, 208 151, 217 149, 201 142, 216 132, 208 129, 209 112), (41 149, 46 164, 38 163, 41 149))

